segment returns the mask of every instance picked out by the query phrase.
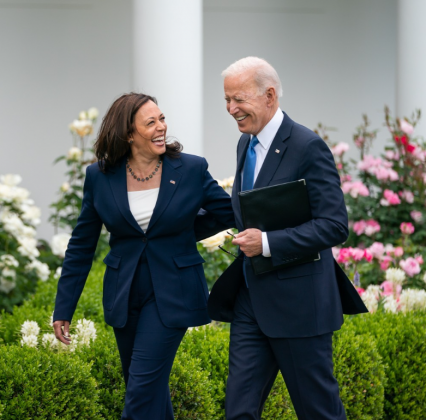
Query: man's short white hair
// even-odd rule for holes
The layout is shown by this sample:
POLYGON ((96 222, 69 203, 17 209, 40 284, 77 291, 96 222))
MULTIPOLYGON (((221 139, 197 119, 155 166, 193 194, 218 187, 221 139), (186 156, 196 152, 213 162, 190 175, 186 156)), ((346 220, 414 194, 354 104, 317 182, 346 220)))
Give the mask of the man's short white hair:
POLYGON ((268 87, 273 86, 277 96, 283 96, 283 88, 281 80, 276 70, 263 58, 259 57, 246 57, 231 64, 228 68, 223 70, 222 77, 226 79, 228 76, 236 76, 244 73, 247 70, 255 72, 255 82, 259 88, 259 94, 263 95, 268 87))

